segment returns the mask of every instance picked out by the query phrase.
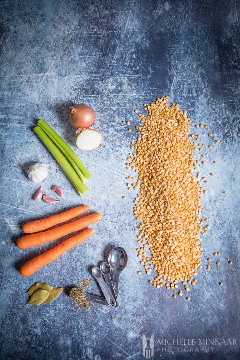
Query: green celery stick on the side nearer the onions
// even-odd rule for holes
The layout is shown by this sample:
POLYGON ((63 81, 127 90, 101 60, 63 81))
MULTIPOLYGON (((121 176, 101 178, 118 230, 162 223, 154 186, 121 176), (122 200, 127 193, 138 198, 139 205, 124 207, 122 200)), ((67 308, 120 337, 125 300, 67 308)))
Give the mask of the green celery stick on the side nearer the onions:
POLYGON ((68 161, 72 164, 78 176, 81 177, 82 182, 86 183, 92 177, 86 166, 80 160, 80 158, 74 153, 74 151, 68 146, 67 143, 49 126, 43 119, 39 120, 38 126, 49 136, 49 138, 55 143, 55 145, 62 151, 68 161))

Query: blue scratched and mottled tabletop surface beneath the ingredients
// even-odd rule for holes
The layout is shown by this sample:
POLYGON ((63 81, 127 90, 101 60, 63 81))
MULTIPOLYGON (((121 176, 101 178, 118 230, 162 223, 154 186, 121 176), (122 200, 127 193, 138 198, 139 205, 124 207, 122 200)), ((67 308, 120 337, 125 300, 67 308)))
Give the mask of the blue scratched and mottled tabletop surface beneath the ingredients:
MULTIPOLYGON (((239 359, 239 0, 1 1, 0 9, 1 358, 144 359, 142 334, 154 334, 153 359, 239 359), (201 169, 207 178, 215 174, 203 199, 211 230, 190 302, 185 294, 174 300, 151 287, 144 271, 137 275, 135 194, 126 190, 124 165, 134 135, 121 122, 133 128, 139 122, 133 111, 163 95, 188 111, 193 129, 208 124, 205 146, 208 132, 221 139, 201 169), (80 102, 96 110, 95 128, 104 136, 93 152, 72 144, 93 174, 85 198, 32 130, 44 118, 71 144, 67 106, 80 102), (49 166, 44 192, 55 195, 50 188, 57 184, 65 199, 52 206, 32 201, 38 185, 28 181, 26 169, 35 161, 49 166), (22 278, 19 267, 55 243, 19 250, 21 224, 78 204, 103 212, 95 235, 22 278), (96 305, 76 313, 65 292, 49 305, 25 306, 33 283, 68 288, 91 278, 89 267, 117 245, 129 256, 117 309, 96 305), (208 273, 213 251, 221 251, 221 266, 212 259, 208 273), (204 339, 214 344, 205 346, 204 339)), ((90 290, 100 294, 94 282, 90 290)))

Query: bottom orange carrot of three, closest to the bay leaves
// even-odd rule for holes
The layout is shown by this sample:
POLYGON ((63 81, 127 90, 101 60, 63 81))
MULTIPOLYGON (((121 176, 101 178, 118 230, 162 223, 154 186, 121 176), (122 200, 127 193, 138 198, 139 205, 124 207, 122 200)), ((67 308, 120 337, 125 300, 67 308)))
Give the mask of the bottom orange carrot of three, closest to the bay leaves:
POLYGON ((41 269, 41 267, 44 267, 58 257, 62 256, 69 249, 89 239, 93 233, 93 228, 87 229, 81 234, 63 241, 61 244, 55 246, 55 248, 49 251, 46 251, 44 254, 34 257, 32 260, 29 260, 21 267, 21 275, 27 277, 34 274, 37 270, 41 269))

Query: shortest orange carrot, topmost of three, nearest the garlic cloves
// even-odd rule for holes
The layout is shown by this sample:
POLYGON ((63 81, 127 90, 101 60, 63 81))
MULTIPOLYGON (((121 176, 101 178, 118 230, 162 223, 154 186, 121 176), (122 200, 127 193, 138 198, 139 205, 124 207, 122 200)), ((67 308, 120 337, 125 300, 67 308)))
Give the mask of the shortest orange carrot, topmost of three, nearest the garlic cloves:
POLYGON ((68 221, 73 217, 76 217, 83 212, 89 210, 89 206, 78 206, 74 209, 64 211, 58 215, 53 215, 50 217, 46 217, 46 219, 35 220, 27 222, 27 224, 23 225, 23 231, 26 234, 36 233, 37 231, 42 231, 51 228, 56 224, 60 224, 61 222, 68 221))

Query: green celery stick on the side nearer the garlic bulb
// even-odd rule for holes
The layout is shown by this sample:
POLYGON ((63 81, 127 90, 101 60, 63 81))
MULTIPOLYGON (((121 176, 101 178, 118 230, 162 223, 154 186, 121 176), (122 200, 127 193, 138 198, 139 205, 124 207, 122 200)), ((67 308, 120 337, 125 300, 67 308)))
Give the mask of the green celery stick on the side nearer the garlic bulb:
POLYGON ((63 171, 73 184, 74 188, 77 190, 78 194, 83 196, 87 192, 89 192, 89 188, 85 184, 83 184, 82 180, 79 178, 72 165, 67 161, 64 155, 56 147, 53 141, 49 139, 45 132, 39 126, 36 126, 33 130, 42 140, 47 149, 49 149, 50 153, 54 156, 59 165, 62 167, 63 171))

